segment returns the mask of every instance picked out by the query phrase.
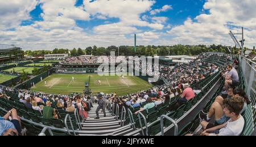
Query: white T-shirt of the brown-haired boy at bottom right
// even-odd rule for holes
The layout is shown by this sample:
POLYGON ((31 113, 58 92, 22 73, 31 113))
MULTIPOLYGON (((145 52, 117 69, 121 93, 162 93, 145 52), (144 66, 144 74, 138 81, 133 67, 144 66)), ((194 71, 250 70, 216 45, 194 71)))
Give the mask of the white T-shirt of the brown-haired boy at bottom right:
POLYGON ((237 119, 234 122, 231 122, 230 119, 228 122, 226 122, 226 126, 222 129, 220 129, 220 133, 218 136, 239 136, 241 135, 243 131, 243 126, 245 125, 245 120, 243 119, 243 116, 240 115, 240 118, 237 119))

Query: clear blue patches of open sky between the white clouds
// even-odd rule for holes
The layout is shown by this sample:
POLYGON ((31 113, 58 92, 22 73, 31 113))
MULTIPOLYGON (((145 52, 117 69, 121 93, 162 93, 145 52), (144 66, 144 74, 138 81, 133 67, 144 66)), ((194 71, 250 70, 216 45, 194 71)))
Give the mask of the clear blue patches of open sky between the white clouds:
MULTIPOLYGON (((82 0, 77 0, 75 6, 79 7, 83 5, 82 2, 83 2, 82 0)), ((156 16, 167 17, 168 18, 168 20, 166 21, 167 23, 170 23, 172 25, 180 25, 180 24, 183 24, 188 17, 195 18, 197 15, 201 14, 204 3, 205 3, 205 0, 156 1, 155 5, 152 6, 151 8, 154 10, 154 9, 162 8, 164 5, 171 5, 172 10, 169 10, 166 12, 160 12, 156 16)), ((43 21, 43 18, 40 16, 40 14, 43 12, 41 6, 42 6, 42 3, 39 3, 35 7, 35 9, 30 12, 31 19, 22 21, 20 25, 31 25, 34 23, 34 21, 43 21)), ((144 14, 150 15, 150 12, 146 12, 144 14)), ((115 19, 115 18, 109 18, 108 20, 93 19, 90 21, 76 20, 76 23, 81 28, 92 29, 97 25, 104 24, 106 21, 108 21, 108 23, 117 23, 118 19, 115 19)))

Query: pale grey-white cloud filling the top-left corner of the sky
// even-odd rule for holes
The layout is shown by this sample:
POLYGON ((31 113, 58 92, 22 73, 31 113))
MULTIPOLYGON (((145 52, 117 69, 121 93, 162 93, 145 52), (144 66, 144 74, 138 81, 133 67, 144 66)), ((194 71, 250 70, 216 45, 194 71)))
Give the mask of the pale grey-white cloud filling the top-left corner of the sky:
POLYGON ((0 1, 0 29, 18 27, 23 20, 30 19, 29 12, 34 10, 35 0, 0 1))

